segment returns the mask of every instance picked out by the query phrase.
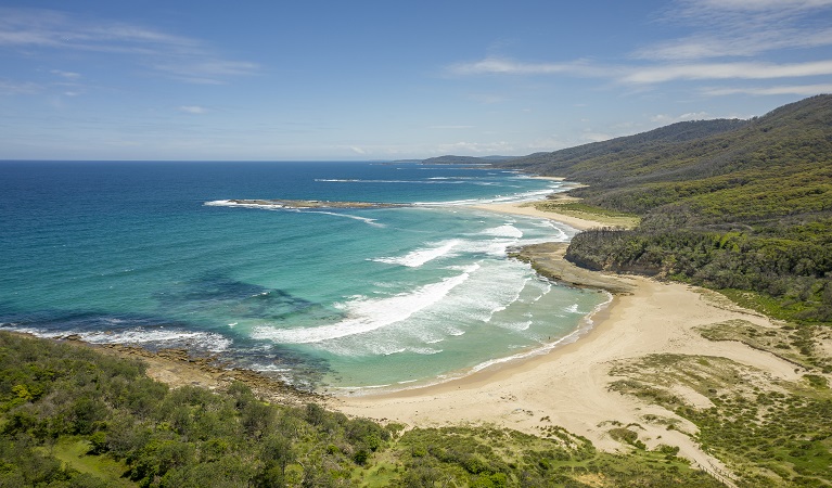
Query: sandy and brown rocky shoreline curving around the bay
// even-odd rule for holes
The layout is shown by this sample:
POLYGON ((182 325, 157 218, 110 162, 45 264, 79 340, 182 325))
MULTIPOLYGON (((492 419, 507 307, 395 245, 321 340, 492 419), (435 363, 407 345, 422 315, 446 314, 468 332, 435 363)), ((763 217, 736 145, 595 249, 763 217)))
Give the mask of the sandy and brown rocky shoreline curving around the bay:
MULTIPOLYGON (((563 221, 576 229, 598 223, 585 219, 571 223, 566 220, 574 218, 538 210, 526 203, 474 208, 563 221)), ((565 249, 563 243, 559 245, 561 252, 565 249)), ((550 253, 552 261, 566 262, 556 251, 543 248, 542 252, 550 253)), ((587 317, 586 326, 560 344, 497 361, 460 377, 396 391, 362 391, 353 396, 304 393, 256 372, 217 368, 209 359, 192 358, 182 350, 151 352, 135 347, 98 346, 72 337, 64 337, 62 342, 144 360, 148 375, 171 387, 194 385, 223 389, 231 381, 243 381, 269 401, 296 406, 318 402, 350 416, 398 422, 408 427, 491 424, 539 436, 546 428, 558 425, 588 438, 598 449, 618 451, 627 448, 607 434, 611 423, 636 424, 641 427, 639 439, 649 448, 658 444, 678 446, 679 455, 702 466, 727 471, 686 434, 695 433, 693 424, 661 407, 611 391, 607 386, 619 377, 609 373, 616 361, 652 354, 679 354, 720 356, 757 368, 773 378, 797 381, 798 370, 782 358, 738 342, 711 342, 695 331, 701 325, 733 319, 770 328, 776 326, 775 322, 739 307, 718 306, 709 298, 713 292, 704 288, 644 277, 581 272, 584 278, 610 278, 624 284, 627 291, 612 294, 605 306, 587 317), (647 421, 648 415, 674 419, 679 428, 668 431, 666 424, 647 421)), ((689 403, 701 403, 695 391, 678 391, 678 395, 689 403)))

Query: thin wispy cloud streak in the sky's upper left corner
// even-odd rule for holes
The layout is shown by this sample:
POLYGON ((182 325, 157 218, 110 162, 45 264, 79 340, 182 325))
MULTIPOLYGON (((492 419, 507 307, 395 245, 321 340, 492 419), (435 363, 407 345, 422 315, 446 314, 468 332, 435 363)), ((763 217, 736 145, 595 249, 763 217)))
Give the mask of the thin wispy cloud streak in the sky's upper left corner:
POLYGON ((0 49, 123 54, 156 73, 188 82, 221 84, 252 75, 256 63, 227 60, 207 43, 118 21, 52 10, 0 9, 0 49))

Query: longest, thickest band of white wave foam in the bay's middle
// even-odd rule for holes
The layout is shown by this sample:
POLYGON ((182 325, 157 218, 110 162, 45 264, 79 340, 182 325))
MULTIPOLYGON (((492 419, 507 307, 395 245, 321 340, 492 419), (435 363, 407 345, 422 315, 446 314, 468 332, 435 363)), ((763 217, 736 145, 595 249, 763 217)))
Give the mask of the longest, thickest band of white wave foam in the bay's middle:
POLYGON ((330 325, 299 329, 255 328, 253 337, 278 343, 308 344, 364 334, 401 322, 413 313, 440 301, 451 290, 464 283, 479 265, 472 265, 456 277, 426 284, 399 295, 376 299, 356 299, 348 304, 351 318, 330 325))

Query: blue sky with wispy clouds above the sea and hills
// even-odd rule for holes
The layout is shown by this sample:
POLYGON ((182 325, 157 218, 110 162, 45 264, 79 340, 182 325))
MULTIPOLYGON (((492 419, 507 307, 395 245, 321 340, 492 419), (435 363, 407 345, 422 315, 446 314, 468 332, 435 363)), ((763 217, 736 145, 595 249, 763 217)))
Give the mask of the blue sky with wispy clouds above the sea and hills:
POLYGON ((11 1, 0 158, 524 155, 832 92, 832 0, 11 1))

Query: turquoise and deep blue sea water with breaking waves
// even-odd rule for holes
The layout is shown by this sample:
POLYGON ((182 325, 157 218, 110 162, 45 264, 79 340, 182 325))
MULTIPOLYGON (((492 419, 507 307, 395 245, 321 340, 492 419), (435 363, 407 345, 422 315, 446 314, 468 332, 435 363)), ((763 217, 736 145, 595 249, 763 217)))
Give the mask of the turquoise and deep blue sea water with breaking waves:
POLYGON ((1 162, 0 326, 187 348, 318 389, 459 376, 572 337, 606 301, 507 257, 573 229, 472 208, 560 185, 447 165, 1 162))

